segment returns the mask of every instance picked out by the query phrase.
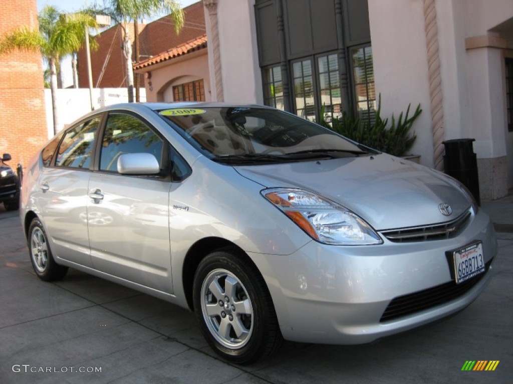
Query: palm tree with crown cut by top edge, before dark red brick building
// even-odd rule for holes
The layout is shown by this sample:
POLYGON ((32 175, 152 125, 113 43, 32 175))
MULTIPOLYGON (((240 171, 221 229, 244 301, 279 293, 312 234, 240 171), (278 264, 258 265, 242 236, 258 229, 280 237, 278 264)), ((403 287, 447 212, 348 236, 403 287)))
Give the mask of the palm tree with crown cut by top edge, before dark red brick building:
POLYGON ((94 6, 89 12, 109 15, 123 30, 123 55, 127 71, 128 101, 133 102, 132 41, 128 25, 143 17, 150 18, 165 12, 170 15, 175 31, 179 33, 184 25, 184 12, 180 3, 175 0, 104 0, 104 4, 105 8, 94 6))

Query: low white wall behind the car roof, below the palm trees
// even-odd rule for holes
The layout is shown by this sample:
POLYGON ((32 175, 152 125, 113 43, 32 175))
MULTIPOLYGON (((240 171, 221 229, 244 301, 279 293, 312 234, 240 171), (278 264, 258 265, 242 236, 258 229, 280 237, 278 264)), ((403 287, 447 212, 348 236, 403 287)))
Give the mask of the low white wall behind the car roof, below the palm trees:
MULTIPOLYGON (((134 90, 135 94, 135 90, 134 90)), ((141 102, 146 101, 146 90, 141 88, 141 102)), ((93 105, 98 109, 105 105, 128 102, 126 88, 93 88, 93 105)), ((53 137, 52 96, 49 89, 45 89, 46 124, 48 138, 53 137)), ((57 90, 57 113, 62 130, 76 119, 91 112, 91 101, 88 88, 67 88, 57 90)))

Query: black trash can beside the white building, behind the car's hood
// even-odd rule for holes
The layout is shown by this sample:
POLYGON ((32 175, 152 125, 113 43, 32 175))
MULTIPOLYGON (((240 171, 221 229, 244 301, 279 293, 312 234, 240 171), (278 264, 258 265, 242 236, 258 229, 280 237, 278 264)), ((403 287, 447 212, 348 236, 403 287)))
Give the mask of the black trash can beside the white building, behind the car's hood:
POLYGON ((476 202, 479 196, 478 160, 472 142, 476 139, 453 139, 444 141, 444 172, 465 185, 476 202))

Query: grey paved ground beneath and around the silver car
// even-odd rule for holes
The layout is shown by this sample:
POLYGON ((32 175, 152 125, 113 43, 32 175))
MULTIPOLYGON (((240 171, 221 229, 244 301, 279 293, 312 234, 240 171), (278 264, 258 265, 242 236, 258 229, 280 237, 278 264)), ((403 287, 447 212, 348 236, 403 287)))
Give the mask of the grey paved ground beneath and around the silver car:
POLYGON ((494 276, 462 312, 368 345, 285 343, 238 367, 184 309, 73 270, 39 280, 17 212, 0 210, 0 383, 511 383, 513 233, 498 236, 494 276), (499 364, 462 371, 467 360, 499 364))

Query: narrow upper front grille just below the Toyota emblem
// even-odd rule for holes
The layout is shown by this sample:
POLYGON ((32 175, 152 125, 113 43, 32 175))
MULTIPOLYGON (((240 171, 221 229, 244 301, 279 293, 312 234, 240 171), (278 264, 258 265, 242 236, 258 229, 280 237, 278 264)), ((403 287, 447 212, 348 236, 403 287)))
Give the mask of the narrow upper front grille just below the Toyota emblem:
POLYGON ((464 212, 454 220, 422 227, 410 227, 381 231, 394 243, 450 239, 457 236, 470 218, 470 211, 464 212))

